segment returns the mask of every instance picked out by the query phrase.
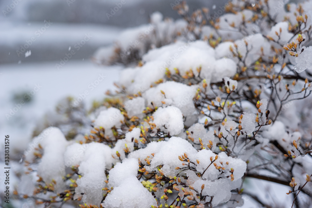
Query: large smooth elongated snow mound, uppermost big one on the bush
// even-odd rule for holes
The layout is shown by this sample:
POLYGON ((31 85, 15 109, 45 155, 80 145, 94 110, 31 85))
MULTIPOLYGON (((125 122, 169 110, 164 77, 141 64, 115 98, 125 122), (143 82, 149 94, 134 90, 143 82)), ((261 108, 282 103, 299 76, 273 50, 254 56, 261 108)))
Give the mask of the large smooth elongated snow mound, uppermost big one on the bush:
POLYGON ((226 62, 224 59, 216 60, 215 53, 216 50, 205 41, 178 41, 149 51, 143 56, 143 60, 161 61, 160 70, 163 73, 168 68, 171 74, 175 74, 175 69, 178 69, 180 75, 185 75, 192 69, 195 77, 200 76, 202 79, 212 79, 215 82, 221 81, 224 76, 233 76, 236 73, 235 63, 230 59, 226 62), (200 75, 197 68, 201 68, 200 75))

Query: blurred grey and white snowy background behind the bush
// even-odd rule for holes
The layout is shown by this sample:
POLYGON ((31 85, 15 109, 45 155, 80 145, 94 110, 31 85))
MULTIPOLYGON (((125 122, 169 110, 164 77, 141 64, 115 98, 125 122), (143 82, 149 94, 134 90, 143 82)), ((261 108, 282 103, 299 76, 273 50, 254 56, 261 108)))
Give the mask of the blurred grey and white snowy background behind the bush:
MULTIPOLYGON (((92 56, 99 47, 112 45, 120 31, 128 27, 148 23, 149 15, 155 11, 163 13, 164 17, 179 18, 170 6, 175 0, 125 0, 119 11, 108 19, 106 13, 119 2, 0 1, 0 134, 10 135, 12 153, 27 145, 34 127, 61 99, 66 96, 77 98, 88 90, 89 94, 83 99, 88 109, 93 100, 104 98, 107 89, 114 89, 113 83, 119 79, 119 70, 123 67, 93 63, 92 56), (90 38, 82 45, 85 34, 90 38), (63 66, 57 67, 70 51, 75 54, 63 66), (104 80, 90 90, 89 85, 101 75, 105 76, 104 80)), ((205 6, 213 13, 227 1, 187 2, 190 11, 205 6)), ((250 183, 269 184, 256 179, 250 183)), ((284 194, 286 189, 274 186, 271 191, 284 194)), ((246 205, 253 207, 248 206, 248 200, 246 205)))

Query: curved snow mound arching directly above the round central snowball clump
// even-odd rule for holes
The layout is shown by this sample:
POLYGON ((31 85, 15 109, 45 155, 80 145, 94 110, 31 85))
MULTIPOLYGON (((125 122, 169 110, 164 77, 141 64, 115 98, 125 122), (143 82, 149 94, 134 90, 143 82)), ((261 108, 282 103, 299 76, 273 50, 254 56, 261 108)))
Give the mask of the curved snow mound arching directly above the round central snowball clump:
POLYGON ((179 108, 183 116, 186 117, 185 125, 192 125, 197 119, 194 115, 196 109, 193 103, 196 90, 197 86, 195 85, 188 86, 174 81, 167 81, 147 90, 142 96, 146 99, 149 107, 152 107, 151 102, 153 102, 155 107, 172 105, 179 108), (162 94, 161 90, 165 94, 162 94), (161 101, 164 101, 165 104, 161 101))

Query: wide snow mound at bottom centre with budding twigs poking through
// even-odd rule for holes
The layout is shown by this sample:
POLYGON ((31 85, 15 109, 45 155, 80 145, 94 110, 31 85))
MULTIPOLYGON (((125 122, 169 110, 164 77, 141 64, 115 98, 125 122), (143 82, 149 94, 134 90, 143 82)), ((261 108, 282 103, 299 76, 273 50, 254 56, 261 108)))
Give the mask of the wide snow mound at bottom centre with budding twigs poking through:
MULTIPOLYGON (((193 130, 196 131, 196 128, 193 130)), ((145 164, 144 168, 146 171, 156 171, 159 173, 161 171, 161 174, 166 177, 173 177, 181 172, 178 175, 188 176, 188 180, 179 177, 181 182, 187 184, 187 186, 193 186, 196 191, 200 192, 202 190, 202 184, 205 184, 203 192, 205 195, 207 193, 209 196, 214 196, 212 200, 214 206, 221 202, 227 202, 231 198, 231 190, 241 185, 241 177, 244 175, 247 167, 246 162, 241 159, 228 157, 225 152, 221 152, 219 155, 207 149, 202 149, 197 152, 191 143, 178 137, 171 137, 167 142, 149 143, 146 148, 131 152, 129 158, 142 161, 142 163, 145 164), (152 153, 154 153, 154 156, 152 153), (181 159, 182 156, 184 158, 188 157, 191 162, 191 167, 197 172, 200 172, 202 176, 197 176, 195 172, 191 170, 184 170, 184 172, 181 172, 181 169, 175 169, 175 167, 183 168, 183 163, 187 163, 182 162, 179 156, 181 159), (146 157, 149 157, 150 165, 144 162, 144 158, 146 157), (212 157, 212 161, 210 157, 212 157), (160 171, 157 169, 159 165, 162 165, 160 171), (216 168, 218 166, 220 166, 220 168, 223 167, 222 173, 216 168), (233 175, 231 176, 231 174, 233 175)), ((183 187, 178 180, 177 184, 178 188, 183 187)), ((155 193, 157 197, 163 195, 162 187, 158 187, 158 189, 160 191, 155 193)), ((208 197, 207 201, 209 200, 210 197, 208 197)))

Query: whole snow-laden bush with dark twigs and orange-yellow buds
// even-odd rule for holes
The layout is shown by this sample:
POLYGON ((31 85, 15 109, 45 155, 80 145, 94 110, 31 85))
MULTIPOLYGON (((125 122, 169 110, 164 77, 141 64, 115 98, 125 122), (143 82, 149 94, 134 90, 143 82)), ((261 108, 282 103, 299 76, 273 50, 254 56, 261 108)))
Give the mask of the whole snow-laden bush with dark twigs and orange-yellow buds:
POLYGON ((310 207, 312 2, 285 3, 233 0, 216 17, 181 2, 183 19, 154 13, 124 31, 94 57, 127 65, 117 93, 91 125, 68 104, 84 121, 74 132, 90 132, 43 130, 15 194, 36 207, 236 207, 243 196, 277 207, 244 191, 252 177, 290 186, 285 207, 310 207))

